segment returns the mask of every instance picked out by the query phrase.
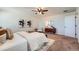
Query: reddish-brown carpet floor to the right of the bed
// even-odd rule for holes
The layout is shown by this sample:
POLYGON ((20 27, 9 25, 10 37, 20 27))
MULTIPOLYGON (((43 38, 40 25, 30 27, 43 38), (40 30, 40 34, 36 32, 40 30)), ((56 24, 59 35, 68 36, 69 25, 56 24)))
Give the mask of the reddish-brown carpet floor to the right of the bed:
POLYGON ((57 34, 46 34, 48 38, 55 40, 55 43, 49 47, 48 51, 79 51, 77 39, 57 34))

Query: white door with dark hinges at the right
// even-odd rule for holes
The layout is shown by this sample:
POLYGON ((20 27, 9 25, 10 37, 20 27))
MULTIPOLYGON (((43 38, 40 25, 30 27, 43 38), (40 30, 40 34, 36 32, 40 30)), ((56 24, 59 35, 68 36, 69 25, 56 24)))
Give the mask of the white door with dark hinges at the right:
POLYGON ((65 35, 75 37, 75 16, 65 16, 65 35))

